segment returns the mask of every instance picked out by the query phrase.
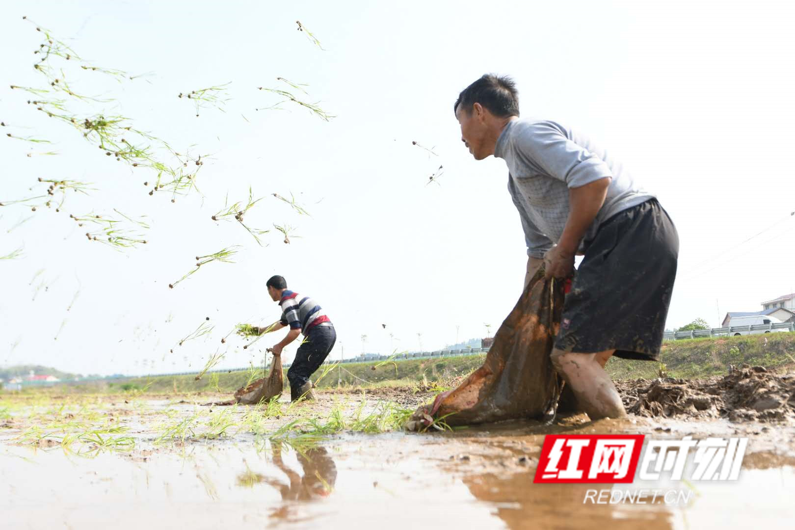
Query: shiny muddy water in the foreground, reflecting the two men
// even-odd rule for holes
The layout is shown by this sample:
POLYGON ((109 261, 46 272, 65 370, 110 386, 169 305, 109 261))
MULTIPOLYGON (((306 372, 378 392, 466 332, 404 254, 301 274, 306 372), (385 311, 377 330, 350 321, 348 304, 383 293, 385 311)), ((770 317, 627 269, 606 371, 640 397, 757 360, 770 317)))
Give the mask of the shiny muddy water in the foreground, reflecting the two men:
POLYGON ((94 458, 13 445, 0 431, 0 528, 767 529, 795 520, 793 427, 574 417, 552 427, 334 435, 301 451, 246 435, 158 448, 133 430, 135 451, 94 458), (750 444, 737 482, 613 488, 693 489, 687 502, 586 505, 587 489, 610 486, 533 484, 543 435, 553 432, 750 444))

